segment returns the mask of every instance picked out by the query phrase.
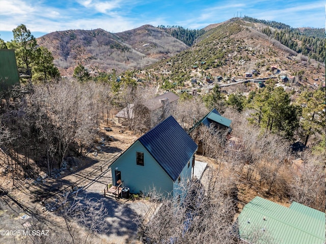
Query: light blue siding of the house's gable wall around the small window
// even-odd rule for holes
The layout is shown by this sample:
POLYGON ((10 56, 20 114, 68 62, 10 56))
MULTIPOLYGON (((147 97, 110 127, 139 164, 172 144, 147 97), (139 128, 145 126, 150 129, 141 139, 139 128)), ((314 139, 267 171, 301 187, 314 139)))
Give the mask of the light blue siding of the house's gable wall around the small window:
POLYGON ((157 192, 164 196, 173 193, 173 180, 139 141, 131 145, 112 164, 113 184, 116 183, 116 168, 121 172, 121 180, 124 181, 124 186, 129 187, 131 193, 146 193, 149 189, 153 189, 153 186, 157 192), (144 166, 136 164, 136 152, 144 153, 144 166))

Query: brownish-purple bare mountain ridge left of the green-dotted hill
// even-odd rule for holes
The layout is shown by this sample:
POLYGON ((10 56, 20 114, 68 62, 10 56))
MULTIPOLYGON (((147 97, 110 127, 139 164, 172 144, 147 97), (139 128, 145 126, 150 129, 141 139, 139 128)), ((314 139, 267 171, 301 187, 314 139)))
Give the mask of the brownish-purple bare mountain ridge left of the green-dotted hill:
POLYGON ((102 29, 52 32, 37 38, 55 58, 62 75, 71 76, 78 63, 90 73, 140 69, 188 48, 151 25, 112 34, 102 29))

